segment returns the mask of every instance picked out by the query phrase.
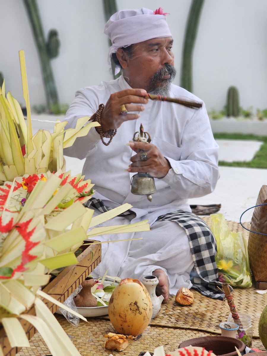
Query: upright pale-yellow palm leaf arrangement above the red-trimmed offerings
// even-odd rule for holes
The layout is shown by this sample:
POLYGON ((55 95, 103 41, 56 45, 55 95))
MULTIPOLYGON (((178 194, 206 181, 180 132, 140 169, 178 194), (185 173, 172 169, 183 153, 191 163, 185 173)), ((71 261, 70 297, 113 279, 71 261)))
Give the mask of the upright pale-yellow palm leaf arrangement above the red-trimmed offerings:
POLYGON ((87 124, 89 117, 85 116, 77 120, 75 129, 64 130, 67 121, 58 121, 53 133, 39 130, 33 135, 25 57, 23 51, 19 54, 27 125, 19 102, 10 92, 5 95, 4 82, 0 88, 0 183, 25 173, 58 171, 64 164, 63 148, 72 146, 77 137, 87 135, 91 127, 99 126, 98 122, 87 124))

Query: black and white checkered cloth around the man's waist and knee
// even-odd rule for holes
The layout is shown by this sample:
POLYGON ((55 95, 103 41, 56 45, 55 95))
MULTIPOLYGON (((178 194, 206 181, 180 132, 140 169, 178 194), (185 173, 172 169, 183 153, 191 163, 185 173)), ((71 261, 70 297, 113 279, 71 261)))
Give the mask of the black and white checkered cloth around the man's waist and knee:
MULTIPOLYGON (((89 199, 84 203, 84 206, 87 208, 92 207, 101 211, 101 213, 112 209, 106 207, 102 200, 96 198, 89 199)), ((129 214, 134 213, 131 210, 127 210, 118 216, 129 214)), ((157 219, 157 221, 163 220, 176 221, 187 234, 195 264, 190 273, 193 288, 206 297, 223 299, 224 293, 219 292, 217 288, 221 283, 218 281, 218 268, 215 262, 217 253, 216 240, 209 226, 199 216, 183 210, 161 215, 157 219)))

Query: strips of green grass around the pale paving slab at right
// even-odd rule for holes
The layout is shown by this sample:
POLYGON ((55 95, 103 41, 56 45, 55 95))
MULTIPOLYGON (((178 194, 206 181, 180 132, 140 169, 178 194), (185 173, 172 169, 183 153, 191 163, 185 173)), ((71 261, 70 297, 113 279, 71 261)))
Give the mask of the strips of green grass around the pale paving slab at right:
POLYGON ((223 140, 250 140, 262 141, 260 149, 255 153, 255 156, 248 162, 226 162, 219 161, 219 166, 231 167, 248 167, 248 168, 267 168, 267 136, 256 136, 252 134, 242 133, 214 133, 214 138, 223 140))

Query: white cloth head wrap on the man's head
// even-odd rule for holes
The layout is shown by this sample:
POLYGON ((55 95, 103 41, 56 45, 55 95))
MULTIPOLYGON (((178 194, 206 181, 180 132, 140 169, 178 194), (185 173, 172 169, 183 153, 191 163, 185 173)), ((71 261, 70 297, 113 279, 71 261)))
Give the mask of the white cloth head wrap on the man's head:
POLYGON ((154 15, 152 10, 144 7, 116 12, 106 23, 104 33, 112 42, 109 62, 111 54, 116 53, 121 47, 128 47, 151 38, 172 37, 166 15, 154 15))

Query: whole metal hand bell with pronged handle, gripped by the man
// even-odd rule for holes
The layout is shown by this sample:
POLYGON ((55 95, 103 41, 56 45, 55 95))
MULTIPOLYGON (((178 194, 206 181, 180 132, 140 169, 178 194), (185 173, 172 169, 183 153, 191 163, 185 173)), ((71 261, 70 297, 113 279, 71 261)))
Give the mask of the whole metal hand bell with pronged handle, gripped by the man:
MULTIPOLYGON (((151 137, 148 132, 145 132, 143 125, 140 125, 140 132, 136 137, 135 132, 133 135, 133 141, 146 141, 151 142, 151 137)), ((149 173, 136 173, 131 179, 131 193, 136 195, 146 195, 149 201, 152 201, 151 194, 156 192, 156 185, 154 178, 149 173)))

